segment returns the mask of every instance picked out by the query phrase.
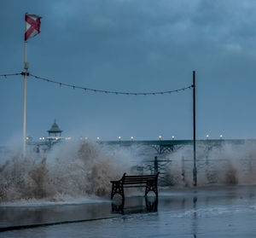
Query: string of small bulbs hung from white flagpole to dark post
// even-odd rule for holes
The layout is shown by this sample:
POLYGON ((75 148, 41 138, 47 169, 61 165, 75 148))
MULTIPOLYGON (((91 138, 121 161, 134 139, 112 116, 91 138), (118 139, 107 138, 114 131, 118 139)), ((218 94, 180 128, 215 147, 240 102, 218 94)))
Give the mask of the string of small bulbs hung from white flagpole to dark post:
MULTIPOLYGON (((20 75, 20 74, 24 75, 24 73, 10 73, 10 74, 0 75, 0 77, 5 77, 6 78, 7 76, 14 76, 14 75, 20 75)), ((124 92, 124 91, 112 91, 112 90, 96 90, 96 89, 85 88, 85 87, 81 87, 81 86, 77 86, 77 85, 73 85, 73 84, 66 84, 66 83, 57 82, 57 81, 54 81, 50 78, 42 78, 42 77, 39 77, 39 76, 34 75, 32 73, 27 73, 27 76, 31 76, 32 78, 35 78, 35 79, 38 79, 38 80, 41 80, 41 81, 44 81, 44 82, 48 82, 48 83, 52 83, 52 84, 58 84, 59 86, 65 86, 65 87, 73 88, 73 90, 79 89, 79 90, 91 91, 91 92, 95 92, 95 93, 127 95, 127 96, 165 95, 165 94, 172 94, 172 93, 175 93, 175 92, 180 92, 180 91, 183 91, 183 90, 189 90, 189 89, 193 88, 193 85, 189 85, 187 87, 177 89, 177 90, 155 91, 155 92, 124 92)))

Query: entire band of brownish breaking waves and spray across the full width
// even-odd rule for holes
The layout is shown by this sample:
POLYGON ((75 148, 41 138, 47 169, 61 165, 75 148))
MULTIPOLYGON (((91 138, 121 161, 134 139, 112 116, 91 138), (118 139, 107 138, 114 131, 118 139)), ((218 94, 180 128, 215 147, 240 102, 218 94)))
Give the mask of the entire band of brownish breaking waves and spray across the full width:
MULTIPOLYGON (((37 158, 36 154, 26 159, 13 155, 0 165, 0 203, 109 198, 109 181, 124 172, 159 170, 160 186, 193 186, 193 148, 189 145, 159 155, 149 146, 73 142, 55 145, 47 157, 37 158)), ((221 147, 198 143, 196 158, 199 186, 256 183, 254 143, 223 143, 221 147)))

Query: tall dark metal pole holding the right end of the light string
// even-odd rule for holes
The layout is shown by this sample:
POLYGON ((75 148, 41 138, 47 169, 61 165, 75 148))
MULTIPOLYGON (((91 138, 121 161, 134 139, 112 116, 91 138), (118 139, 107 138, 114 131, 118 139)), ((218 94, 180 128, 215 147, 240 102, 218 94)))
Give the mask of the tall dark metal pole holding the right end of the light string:
POLYGON ((193 147, 194 147, 194 167, 193 185, 197 185, 196 156, 195 156, 195 71, 193 71, 193 147))

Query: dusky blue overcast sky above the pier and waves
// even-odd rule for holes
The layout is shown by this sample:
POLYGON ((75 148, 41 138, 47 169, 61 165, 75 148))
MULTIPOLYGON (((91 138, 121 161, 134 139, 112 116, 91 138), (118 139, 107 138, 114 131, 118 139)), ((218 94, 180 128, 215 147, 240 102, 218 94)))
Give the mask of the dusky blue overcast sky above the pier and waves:
MULTIPOLYGON (((254 0, 0 1, 0 74, 23 68, 24 14, 43 17, 28 40, 29 72, 102 90, 176 90, 197 83, 197 137, 256 137, 254 0)), ((22 134, 22 77, 0 78, 0 144, 22 134)), ((27 79, 27 135, 102 140, 190 139, 192 90, 166 96, 85 93, 27 79)))

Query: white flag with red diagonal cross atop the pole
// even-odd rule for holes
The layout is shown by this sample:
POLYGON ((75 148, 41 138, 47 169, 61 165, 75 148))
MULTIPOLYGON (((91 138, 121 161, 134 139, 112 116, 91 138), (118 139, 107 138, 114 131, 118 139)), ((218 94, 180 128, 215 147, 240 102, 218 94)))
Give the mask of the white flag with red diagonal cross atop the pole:
POLYGON ((38 15, 25 15, 26 32, 25 41, 40 33, 41 17, 38 15))

